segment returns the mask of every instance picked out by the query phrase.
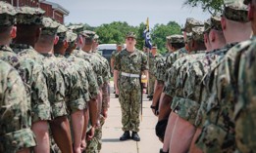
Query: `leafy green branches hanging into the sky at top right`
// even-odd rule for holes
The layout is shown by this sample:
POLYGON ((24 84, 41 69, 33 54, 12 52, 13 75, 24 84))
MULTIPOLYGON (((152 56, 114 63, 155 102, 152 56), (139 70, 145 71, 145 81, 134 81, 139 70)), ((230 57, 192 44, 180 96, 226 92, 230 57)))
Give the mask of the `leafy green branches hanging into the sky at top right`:
POLYGON ((185 0, 184 5, 200 7, 203 11, 208 11, 212 15, 221 13, 223 10, 223 0, 185 0))

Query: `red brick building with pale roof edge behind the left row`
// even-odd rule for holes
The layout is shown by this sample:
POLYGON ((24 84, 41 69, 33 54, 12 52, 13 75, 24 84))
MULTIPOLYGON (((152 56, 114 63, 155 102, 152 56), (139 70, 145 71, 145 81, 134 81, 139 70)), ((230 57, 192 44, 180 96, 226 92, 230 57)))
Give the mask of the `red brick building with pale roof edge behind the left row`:
POLYGON ((70 14, 70 12, 63 8, 61 5, 46 0, 3 0, 15 7, 40 7, 45 11, 45 16, 52 19, 56 19, 61 23, 64 23, 64 18, 70 14))

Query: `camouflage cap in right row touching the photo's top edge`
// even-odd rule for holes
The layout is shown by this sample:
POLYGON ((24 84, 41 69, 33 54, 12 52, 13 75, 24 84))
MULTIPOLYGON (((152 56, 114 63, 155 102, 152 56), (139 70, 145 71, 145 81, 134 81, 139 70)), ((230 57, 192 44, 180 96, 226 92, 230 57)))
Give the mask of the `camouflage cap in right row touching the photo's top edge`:
POLYGON ((247 6, 243 4, 243 0, 224 0, 223 16, 227 19, 239 22, 248 22, 247 6))

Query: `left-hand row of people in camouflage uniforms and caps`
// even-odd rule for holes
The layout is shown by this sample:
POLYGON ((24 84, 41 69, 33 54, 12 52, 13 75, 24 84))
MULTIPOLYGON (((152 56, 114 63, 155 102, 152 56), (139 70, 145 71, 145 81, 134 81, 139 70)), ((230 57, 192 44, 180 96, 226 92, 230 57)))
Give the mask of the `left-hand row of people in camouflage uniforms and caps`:
POLYGON ((0 2, 0 152, 97 153, 110 100, 98 35, 0 2))

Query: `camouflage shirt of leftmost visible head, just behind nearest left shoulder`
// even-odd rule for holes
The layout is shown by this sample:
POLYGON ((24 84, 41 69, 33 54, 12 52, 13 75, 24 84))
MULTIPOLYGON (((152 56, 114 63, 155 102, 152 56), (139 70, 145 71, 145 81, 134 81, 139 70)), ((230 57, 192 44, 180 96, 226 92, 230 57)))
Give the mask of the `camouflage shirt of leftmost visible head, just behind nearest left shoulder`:
POLYGON ((50 102, 43 67, 33 59, 18 57, 7 46, 0 47, 0 59, 14 66, 24 81, 27 102, 31 104, 32 122, 50 120, 50 102))

